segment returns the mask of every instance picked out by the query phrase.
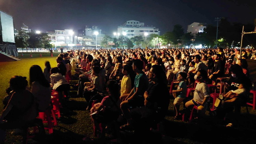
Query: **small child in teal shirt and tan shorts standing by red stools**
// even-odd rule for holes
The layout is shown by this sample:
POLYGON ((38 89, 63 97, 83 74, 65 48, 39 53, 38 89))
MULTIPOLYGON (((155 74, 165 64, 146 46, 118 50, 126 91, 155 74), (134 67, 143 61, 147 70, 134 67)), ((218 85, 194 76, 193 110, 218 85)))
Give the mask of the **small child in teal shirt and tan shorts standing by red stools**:
POLYGON ((179 113, 180 111, 180 103, 186 98, 186 93, 187 93, 187 85, 185 78, 187 77, 187 74, 184 72, 179 72, 178 74, 178 81, 180 81, 177 90, 173 90, 173 96, 174 96, 174 108, 176 110, 176 116, 174 116, 174 120, 180 119, 181 115, 179 113), (177 96, 178 94, 178 96, 177 96))

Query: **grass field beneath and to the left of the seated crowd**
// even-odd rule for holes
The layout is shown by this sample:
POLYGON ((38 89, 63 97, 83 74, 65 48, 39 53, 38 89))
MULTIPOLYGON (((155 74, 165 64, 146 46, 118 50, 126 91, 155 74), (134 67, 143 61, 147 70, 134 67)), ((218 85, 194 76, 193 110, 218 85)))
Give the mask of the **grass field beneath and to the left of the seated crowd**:
MULTIPOLYGON (((56 57, 50 57, 49 53, 39 54, 30 53, 23 55, 21 61, 0 63, 0 100, 6 95, 5 89, 9 86, 11 76, 26 76, 29 81, 29 69, 32 65, 39 65, 43 69, 45 61, 50 61, 52 67, 57 65, 56 57)), ((70 84, 76 84, 77 80, 73 80, 70 84)), ((75 96, 76 90, 71 89, 70 95, 75 96)), ((0 101, 0 108, 3 107, 0 101)), ((70 98, 67 107, 61 109, 61 118, 58 118, 58 126, 54 127, 53 134, 46 135, 46 143, 69 144, 69 143, 94 143, 83 142, 82 138, 87 136, 93 137, 93 127, 89 117, 89 112, 85 111, 87 103, 84 98, 70 98)), ((181 107, 182 108, 182 107, 181 107)), ((165 131, 162 142, 165 144, 214 144, 214 143, 255 143, 256 137, 256 112, 249 107, 250 114, 246 114, 245 107, 241 109, 241 116, 237 120, 237 126, 234 129, 227 129, 224 124, 221 125, 215 119, 209 116, 204 122, 182 122, 181 120, 173 120, 174 107, 173 99, 170 100, 169 113, 163 121, 163 129, 165 131)), ((20 136, 12 136, 11 131, 7 131, 7 144, 20 144, 20 136)), ((46 133, 48 131, 46 130, 46 133)), ((108 137, 109 138, 109 135, 108 137)), ((132 133, 122 133, 124 143, 131 143, 133 140, 132 133)), ((37 143, 35 140, 29 140, 29 143, 37 143)))

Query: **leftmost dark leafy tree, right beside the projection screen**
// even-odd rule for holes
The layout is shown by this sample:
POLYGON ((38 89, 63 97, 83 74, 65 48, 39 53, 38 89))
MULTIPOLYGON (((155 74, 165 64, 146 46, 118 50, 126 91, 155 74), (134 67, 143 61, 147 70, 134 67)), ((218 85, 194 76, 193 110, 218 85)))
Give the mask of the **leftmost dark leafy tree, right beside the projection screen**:
POLYGON ((25 30, 19 30, 18 35, 15 36, 16 46, 22 48, 22 52, 23 48, 26 48, 28 52, 28 39, 29 35, 25 30))

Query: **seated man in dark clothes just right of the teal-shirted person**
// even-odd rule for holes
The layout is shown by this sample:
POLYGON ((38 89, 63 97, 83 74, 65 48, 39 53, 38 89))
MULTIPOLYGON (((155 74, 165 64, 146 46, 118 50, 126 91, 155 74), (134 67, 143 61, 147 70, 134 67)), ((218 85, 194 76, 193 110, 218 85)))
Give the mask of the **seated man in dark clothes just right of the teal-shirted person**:
POLYGON ((169 106, 169 92, 165 71, 160 65, 153 65, 149 71, 149 87, 144 93, 145 107, 138 107, 130 111, 136 140, 156 140, 148 138, 150 127, 165 117, 169 106), (137 139, 139 138, 139 139, 137 139))

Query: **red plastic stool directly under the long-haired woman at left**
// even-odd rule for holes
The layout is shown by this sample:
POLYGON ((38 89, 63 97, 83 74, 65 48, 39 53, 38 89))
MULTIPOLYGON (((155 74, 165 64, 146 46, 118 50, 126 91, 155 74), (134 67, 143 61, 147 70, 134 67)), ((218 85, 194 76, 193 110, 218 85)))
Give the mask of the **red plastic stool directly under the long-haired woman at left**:
POLYGON ((48 129, 50 134, 53 133, 53 126, 57 126, 57 120, 53 109, 47 109, 45 112, 39 112, 39 118, 42 118, 43 123, 48 123, 48 127, 45 127, 45 129, 48 129))

